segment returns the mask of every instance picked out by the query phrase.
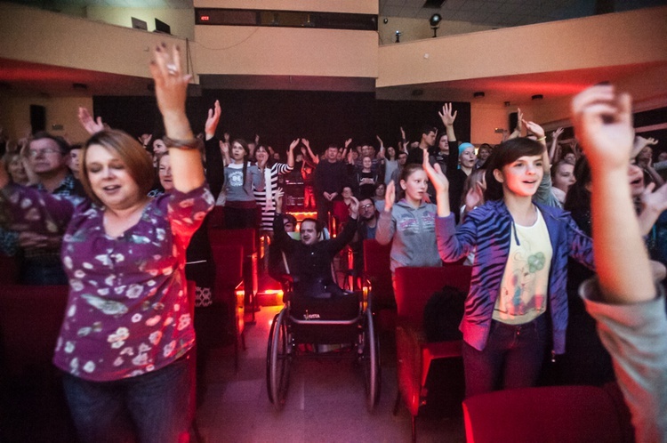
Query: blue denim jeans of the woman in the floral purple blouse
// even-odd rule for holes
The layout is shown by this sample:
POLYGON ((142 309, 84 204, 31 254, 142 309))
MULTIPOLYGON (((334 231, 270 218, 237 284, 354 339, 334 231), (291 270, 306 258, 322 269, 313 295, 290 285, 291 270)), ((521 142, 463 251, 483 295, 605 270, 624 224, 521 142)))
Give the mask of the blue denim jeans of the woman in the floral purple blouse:
POLYGON ((79 439, 177 443, 189 430, 193 358, 189 352, 155 372, 112 382, 65 374, 65 395, 79 439))

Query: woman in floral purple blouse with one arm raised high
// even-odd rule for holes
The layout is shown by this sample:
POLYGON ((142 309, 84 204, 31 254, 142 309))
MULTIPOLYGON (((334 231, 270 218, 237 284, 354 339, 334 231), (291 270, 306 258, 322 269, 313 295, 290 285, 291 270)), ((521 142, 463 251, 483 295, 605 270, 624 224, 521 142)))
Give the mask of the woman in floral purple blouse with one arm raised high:
MULTIPOLYGON (((151 198, 152 164, 133 137, 87 120, 79 205, 9 184, 0 210, 13 230, 61 233, 68 307, 53 362, 82 441, 176 442, 187 436, 195 343, 185 251, 213 207, 185 115, 190 76, 178 49, 150 70, 173 157, 175 190, 151 198)), ((87 112, 85 112, 87 114, 87 112)))

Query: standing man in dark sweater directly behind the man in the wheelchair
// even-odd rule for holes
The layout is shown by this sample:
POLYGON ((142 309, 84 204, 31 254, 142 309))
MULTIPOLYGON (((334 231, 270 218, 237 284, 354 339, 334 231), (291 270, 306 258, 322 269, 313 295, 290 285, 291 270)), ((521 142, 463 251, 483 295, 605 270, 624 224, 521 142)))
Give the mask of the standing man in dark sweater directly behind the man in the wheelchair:
POLYGON ((348 176, 347 167, 338 161, 338 147, 330 145, 325 159, 315 168, 314 188, 317 205, 317 220, 327 225, 328 213, 333 209, 333 200, 341 194, 342 185, 348 176))

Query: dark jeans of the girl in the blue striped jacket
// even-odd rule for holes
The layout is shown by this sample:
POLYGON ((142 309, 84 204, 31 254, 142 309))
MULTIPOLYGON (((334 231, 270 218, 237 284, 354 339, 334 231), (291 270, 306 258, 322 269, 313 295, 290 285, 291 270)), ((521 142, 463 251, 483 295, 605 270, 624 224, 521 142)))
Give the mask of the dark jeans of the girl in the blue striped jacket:
POLYGON ((492 320, 484 350, 463 342, 466 398, 537 383, 549 330, 546 316, 514 326, 492 320))

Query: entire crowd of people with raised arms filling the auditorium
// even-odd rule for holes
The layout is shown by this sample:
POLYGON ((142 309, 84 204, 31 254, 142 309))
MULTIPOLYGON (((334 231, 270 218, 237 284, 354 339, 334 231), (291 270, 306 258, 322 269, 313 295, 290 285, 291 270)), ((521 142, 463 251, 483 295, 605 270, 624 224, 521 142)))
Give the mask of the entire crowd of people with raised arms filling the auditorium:
POLYGON ((360 272, 365 239, 391 245, 392 274, 469 264, 467 396, 542 383, 556 362, 549 383, 618 378, 638 439, 667 438, 664 299, 645 253, 667 261, 667 150, 634 134, 629 98, 611 86, 575 97, 581 144, 560 142, 559 128, 549 147, 519 109, 502 143, 475 147, 457 139, 446 103, 442 130, 424 125, 419 141, 399 128, 396 146, 348 139, 317 155, 301 137, 280 152, 259 137, 219 140, 218 101, 195 136, 180 57, 158 46, 151 63, 165 134, 134 138, 80 109, 91 134, 82 144, 49 133, 5 141, 0 246, 20 256, 21 283, 70 287, 53 361, 81 439, 178 441, 187 430, 198 313, 185 286, 197 282, 197 308, 211 304, 206 214, 216 202, 227 229, 275 232, 304 293, 338 294, 333 256, 350 244, 360 272), (290 177, 304 208, 317 208, 299 240, 283 205, 290 177), (334 226, 338 236, 321 239, 334 226), (639 324, 637 335, 623 322, 639 324), (634 341, 662 351, 638 356, 634 341))

